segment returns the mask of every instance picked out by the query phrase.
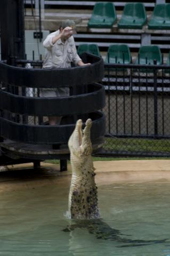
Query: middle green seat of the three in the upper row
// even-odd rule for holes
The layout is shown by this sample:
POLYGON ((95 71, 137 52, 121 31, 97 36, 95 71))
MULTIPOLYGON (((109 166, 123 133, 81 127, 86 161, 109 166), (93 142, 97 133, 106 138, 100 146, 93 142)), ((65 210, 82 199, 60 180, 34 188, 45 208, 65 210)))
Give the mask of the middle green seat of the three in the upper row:
POLYGON ((118 28, 141 29, 147 22, 147 14, 143 3, 127 3, 124 7, 118 28))

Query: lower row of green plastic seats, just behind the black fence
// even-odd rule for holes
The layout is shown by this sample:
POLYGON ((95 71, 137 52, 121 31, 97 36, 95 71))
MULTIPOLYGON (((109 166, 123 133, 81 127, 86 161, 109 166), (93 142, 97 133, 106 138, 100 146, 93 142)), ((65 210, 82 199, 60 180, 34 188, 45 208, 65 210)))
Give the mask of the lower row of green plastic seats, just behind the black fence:
MULTIPOLYGON (((78 54, 90 52, 100 56, 99 46, 97 44, 80 44, 77 49, 78 54)), ((169 52, 170 57, 170 52, 169 52)), ((169 57, 167 65, 169 65, 169 57)), ((157 65, 162 64, 160 48, 157 45, 142 45, 135 60, 135 64, 152 65, 156 60, 157 65)), ((105 63, 131 63, 131 52, 126 44, 113 44, 108 48, 105 63)))

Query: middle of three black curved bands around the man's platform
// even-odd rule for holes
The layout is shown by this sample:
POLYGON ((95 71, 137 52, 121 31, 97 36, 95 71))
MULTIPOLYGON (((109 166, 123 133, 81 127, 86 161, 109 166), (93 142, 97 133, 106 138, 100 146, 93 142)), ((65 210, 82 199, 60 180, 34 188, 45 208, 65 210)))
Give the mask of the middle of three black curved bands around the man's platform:
MULTIPOLYGON (((0 90, 0 109, 21 115, 72 115, 90 113, 104 107, 104 88, 91 84, 93 92, 62 98, 41 98, 14 95, 0 90), (90 104, 93 102, 93 104, 90 104), (48 106, 48 107, 47 107, 48 106), (63 108, 64 106, 64 108, 63 108)), ((89 91, 89 90, 88 90, 89 91)))

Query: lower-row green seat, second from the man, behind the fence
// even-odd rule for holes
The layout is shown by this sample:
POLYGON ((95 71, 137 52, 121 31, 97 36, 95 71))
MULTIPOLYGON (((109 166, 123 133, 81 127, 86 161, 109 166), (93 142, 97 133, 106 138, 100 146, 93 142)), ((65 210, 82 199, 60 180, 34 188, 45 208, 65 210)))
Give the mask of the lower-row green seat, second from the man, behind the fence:
POLYGON ((131 52, 128 45, 126 44, 115 44, 110 45, 107 56, 106 63, 131 63, 131 52))

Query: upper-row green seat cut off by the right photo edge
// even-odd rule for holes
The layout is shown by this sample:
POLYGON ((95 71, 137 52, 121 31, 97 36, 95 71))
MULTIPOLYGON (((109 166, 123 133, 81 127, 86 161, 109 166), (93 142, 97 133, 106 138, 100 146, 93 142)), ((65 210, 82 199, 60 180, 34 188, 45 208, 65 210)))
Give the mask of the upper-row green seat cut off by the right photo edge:
POLYGON ((170 29, 170 4, 155 6, 148 29, 170 29))

